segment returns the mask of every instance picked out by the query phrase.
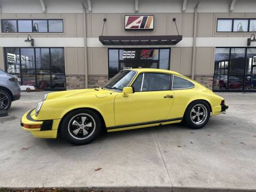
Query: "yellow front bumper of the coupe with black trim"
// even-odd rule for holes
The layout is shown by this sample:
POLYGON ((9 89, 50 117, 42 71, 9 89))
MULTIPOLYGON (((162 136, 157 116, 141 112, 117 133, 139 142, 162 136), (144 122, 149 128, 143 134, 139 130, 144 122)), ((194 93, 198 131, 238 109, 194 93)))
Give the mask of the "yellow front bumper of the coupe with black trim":
POLYGON ((57 138, 61 119, 37 120, 32 118, 34 109, 27 111, 21 118, 23 130, 30 131, 36 138, 57 138))

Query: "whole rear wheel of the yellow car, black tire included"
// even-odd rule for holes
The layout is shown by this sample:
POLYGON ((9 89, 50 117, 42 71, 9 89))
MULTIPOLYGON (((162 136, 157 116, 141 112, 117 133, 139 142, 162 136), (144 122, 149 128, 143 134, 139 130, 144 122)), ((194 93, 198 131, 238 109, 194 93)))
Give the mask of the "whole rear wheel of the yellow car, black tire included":
POLYGON ((191 129, 201 129, 209 121, 210 113, 211 108, 207 102, 203 100, 193 101, 185 111, 183 122, 191 129))

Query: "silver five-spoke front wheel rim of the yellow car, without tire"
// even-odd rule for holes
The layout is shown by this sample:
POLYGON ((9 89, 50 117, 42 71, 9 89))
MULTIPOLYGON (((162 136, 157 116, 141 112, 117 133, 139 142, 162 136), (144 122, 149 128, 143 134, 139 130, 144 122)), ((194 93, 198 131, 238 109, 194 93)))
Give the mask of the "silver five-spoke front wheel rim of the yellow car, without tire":
POLYGON ((77 114, 68 123, 68 132, 71 137, 83 140, 89 138, 95 131, 95 120, 89 114, 77 114))

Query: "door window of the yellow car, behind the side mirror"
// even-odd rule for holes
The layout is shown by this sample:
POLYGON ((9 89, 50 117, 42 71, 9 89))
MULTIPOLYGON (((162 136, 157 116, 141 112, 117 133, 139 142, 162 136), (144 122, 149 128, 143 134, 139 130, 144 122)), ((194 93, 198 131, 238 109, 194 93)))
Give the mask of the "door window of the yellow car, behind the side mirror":
POLYGON ((133 84, 135 91, 164 91, 170 90, 171 75, 161 73, 140 74, 133 84))

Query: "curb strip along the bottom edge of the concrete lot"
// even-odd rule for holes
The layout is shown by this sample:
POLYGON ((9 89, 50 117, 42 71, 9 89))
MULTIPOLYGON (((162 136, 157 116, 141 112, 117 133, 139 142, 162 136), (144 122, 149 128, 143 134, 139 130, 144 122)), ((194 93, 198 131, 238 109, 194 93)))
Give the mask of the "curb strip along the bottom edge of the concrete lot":
POLYGON ((85 192, 251 192, 256 189, 239 189, 239 188, 196 188, 196 187, 45 187, 45 188, 31 188, 31 187, 15 187, 15 188, 1 188, 2 191, 85 191, 85 192))

